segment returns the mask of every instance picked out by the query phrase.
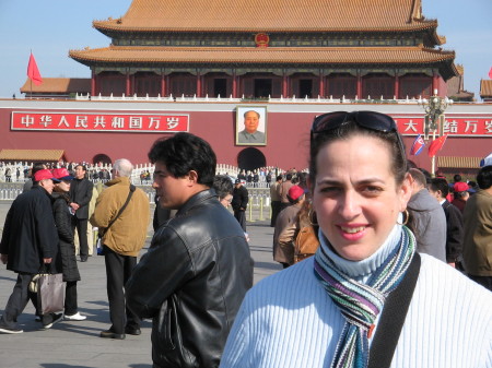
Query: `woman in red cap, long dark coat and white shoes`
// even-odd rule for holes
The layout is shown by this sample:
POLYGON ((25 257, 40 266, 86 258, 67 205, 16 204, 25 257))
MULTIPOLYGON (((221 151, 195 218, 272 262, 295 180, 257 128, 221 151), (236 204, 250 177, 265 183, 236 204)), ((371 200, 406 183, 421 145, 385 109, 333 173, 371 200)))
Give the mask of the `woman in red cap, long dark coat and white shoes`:
POLYGON ((57 224, 61 271, 63 281, 67 283, 65 296, 65 319, 69 321, 83 321, 85 316, 79 313, 77 304, 77 282, 80 281, 79 268, 77 266, 75 246, 73 244, 73 230, 71 226, 72 216, 70 209, 70 181, 73 179, 66 168, 52 170, 55 178, 61 180, 55 185, 51 197, 54 198, 52 211, 57 224))

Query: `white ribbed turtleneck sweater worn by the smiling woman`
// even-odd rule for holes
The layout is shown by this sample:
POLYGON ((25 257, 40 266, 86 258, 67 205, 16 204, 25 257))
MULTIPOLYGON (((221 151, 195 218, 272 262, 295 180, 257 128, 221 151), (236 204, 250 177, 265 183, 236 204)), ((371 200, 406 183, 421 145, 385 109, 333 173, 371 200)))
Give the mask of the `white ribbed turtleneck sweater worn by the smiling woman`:
MULTIPOLYGON (((399 230, 396 227, 391 236, 399 230)), ((361 262, 331 256, 351 276, 366 280, 394 246, 388 241, 361 262)), ((391 367, 492 367, 492 293, 444 262, 421 258, 391 367)), ((330 367, 344 320, 314 275, 313 261, 267 277, 249 290, 231 330, 222 368, 330 367)))

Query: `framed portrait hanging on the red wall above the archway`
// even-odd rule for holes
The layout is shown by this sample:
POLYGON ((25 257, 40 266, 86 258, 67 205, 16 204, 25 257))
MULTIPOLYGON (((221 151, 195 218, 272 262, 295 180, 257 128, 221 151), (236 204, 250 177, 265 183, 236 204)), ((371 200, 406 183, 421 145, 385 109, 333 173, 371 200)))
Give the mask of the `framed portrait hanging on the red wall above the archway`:
POLYGON ((267 144, 267 108, 259 106, 237 107, 236 144, 267 144))

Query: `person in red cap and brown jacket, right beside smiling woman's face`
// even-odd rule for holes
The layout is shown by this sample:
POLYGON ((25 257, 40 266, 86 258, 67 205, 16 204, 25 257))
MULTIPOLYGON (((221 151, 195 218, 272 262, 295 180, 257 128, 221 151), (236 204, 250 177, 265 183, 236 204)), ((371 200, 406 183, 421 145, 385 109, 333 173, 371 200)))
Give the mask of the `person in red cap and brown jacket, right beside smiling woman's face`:
POLYGON ((300 186, 292 186, 289 189, 286 198, 289 199, 291 205, 286 206, 279 213, 276 222, 276 229, 273 232, 273 260, 282 264, 284 269, 294 263, 294 252, 293 250, 290 251, 280 247, 279 236, 290 224, 295 221, 306 195, 300 186))

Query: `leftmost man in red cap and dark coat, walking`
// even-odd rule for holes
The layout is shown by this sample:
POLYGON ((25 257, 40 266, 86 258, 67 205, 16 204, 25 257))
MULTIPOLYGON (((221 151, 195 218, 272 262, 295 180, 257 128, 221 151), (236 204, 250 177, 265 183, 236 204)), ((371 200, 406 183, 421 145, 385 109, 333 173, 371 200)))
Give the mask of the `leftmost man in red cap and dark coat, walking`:
MULTIPOLYGON (((34 175, 33 189, 20 194, 9 210, 0 242, 0 259, 17 273, 17 281, 0 319, 0 333, 22 333, 17 317, 30 300, 28 285, 43 264, 57 272, 58 233, 52 216, 54 178, 48 169, 34 175)), ((31 294, 31 297, 33 295, 31 294)), ((44 329, 62 319, 62 313, 43 316, 44 329)))

